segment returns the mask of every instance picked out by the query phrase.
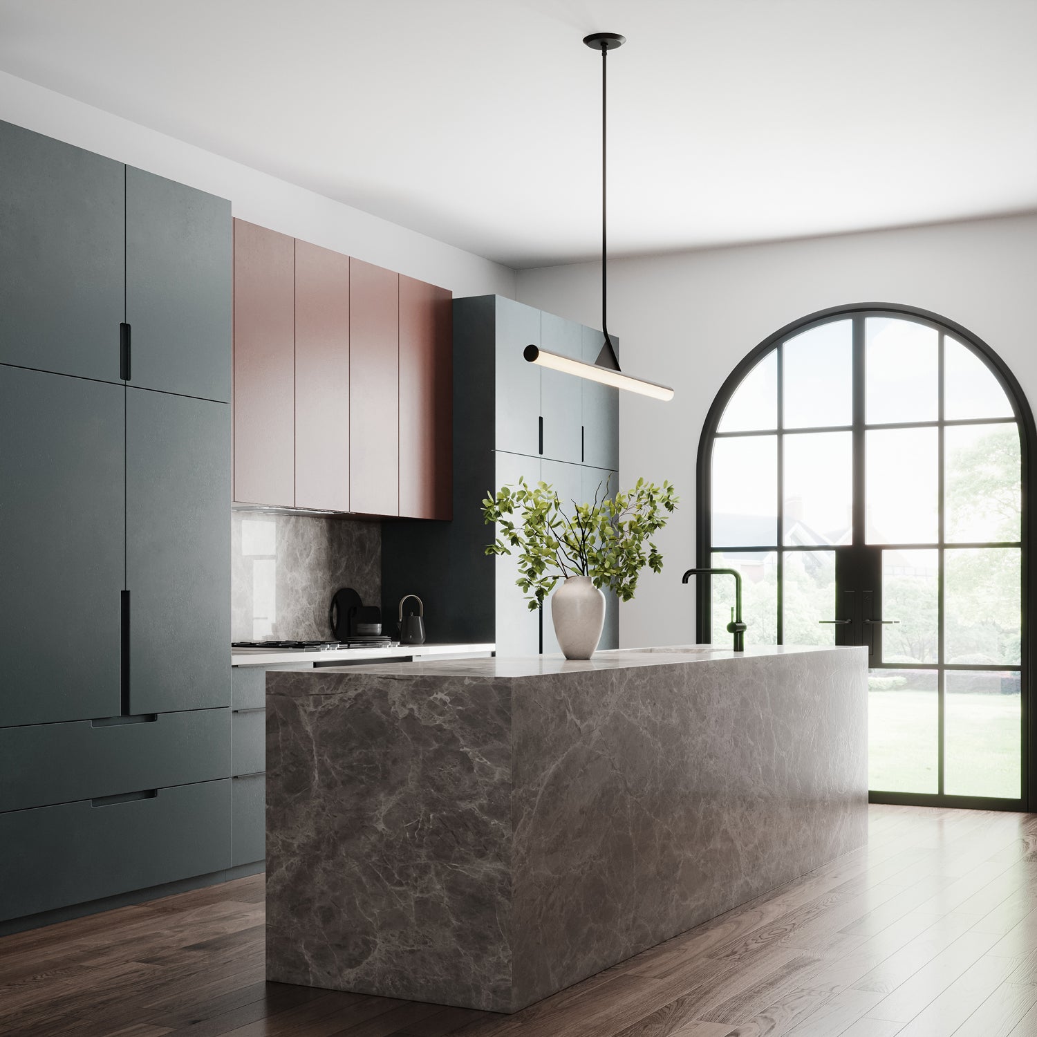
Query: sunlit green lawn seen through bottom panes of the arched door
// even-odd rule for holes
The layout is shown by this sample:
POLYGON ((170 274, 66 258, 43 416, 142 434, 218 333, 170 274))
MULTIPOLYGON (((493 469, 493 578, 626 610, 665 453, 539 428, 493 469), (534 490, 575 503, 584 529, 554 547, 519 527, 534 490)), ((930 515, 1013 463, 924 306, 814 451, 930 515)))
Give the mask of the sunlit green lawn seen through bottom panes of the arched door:
MULTIPOLYGON (((935 792, 936 693, 873 691, 868 703, 869 787, 935 792)), ((948 695, 945 751, 948 794, 1018 798, 1018 696, 948 695)))

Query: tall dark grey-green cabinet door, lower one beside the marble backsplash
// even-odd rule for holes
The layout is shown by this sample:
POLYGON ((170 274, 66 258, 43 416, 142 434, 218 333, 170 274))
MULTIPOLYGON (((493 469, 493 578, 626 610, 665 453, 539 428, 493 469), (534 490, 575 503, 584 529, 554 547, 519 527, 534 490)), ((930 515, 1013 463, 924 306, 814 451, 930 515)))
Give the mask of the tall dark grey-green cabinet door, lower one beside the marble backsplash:
POLYGON ((230 414, 127 390, 130 712, 230 703, 230 414))

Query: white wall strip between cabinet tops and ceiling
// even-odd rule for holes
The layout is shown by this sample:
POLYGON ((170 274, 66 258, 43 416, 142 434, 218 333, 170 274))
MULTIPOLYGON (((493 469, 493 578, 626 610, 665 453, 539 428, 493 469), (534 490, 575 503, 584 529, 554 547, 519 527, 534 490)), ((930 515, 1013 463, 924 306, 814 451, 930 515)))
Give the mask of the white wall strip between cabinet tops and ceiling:
POLYGON ((514 272, 405 227, 0 73, 0 119, 229 198, 235 217, 449 288, 513 297, 514 272))

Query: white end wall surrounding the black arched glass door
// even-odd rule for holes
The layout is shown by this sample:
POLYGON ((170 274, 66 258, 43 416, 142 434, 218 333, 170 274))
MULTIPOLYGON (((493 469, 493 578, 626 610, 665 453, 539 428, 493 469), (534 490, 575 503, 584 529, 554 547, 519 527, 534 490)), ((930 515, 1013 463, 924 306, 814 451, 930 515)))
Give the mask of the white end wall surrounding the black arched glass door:
MULTIPOLYGON (((600 267, 521 271, 517 298, 597 326, 600 267)), ((609 264, 609 327, 623 368, 676 390, 670 403, 620 393, 620 479, 673 481, 681 506, 658 538, 661 576, 621 606, 624 646, 695 640, 695 465, 706 411, 731 369, 779 328, 830 306, 901 303, 963 325, 1037 400, 1037 215, 609 264)))

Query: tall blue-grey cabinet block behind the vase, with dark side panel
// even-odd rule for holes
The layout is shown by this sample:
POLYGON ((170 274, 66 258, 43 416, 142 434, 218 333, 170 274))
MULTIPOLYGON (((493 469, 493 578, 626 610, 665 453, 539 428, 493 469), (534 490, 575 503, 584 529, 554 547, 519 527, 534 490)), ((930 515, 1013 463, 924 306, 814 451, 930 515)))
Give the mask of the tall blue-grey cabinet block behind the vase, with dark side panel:
MULTIPOLYGON (((383 527, 382 608, 393 614, 414 593, 430 641, 493 641, 500 655, 557 651, 550 613, 530 611, 515 586, 516 559, 485 553, 494 530, 482 501, 520 476, 553 483, 566 501, 588 499, 588 480, 598 480, 585 458, 618 467, 615 391, 585 396, 590 383, 523 357, 533 344, 587 359, 601 333, 500 296, 455 299, 453 318, 453 521, 383 527)), ((616 643, 615 614, 613 605, 602 647, 616 643)))

